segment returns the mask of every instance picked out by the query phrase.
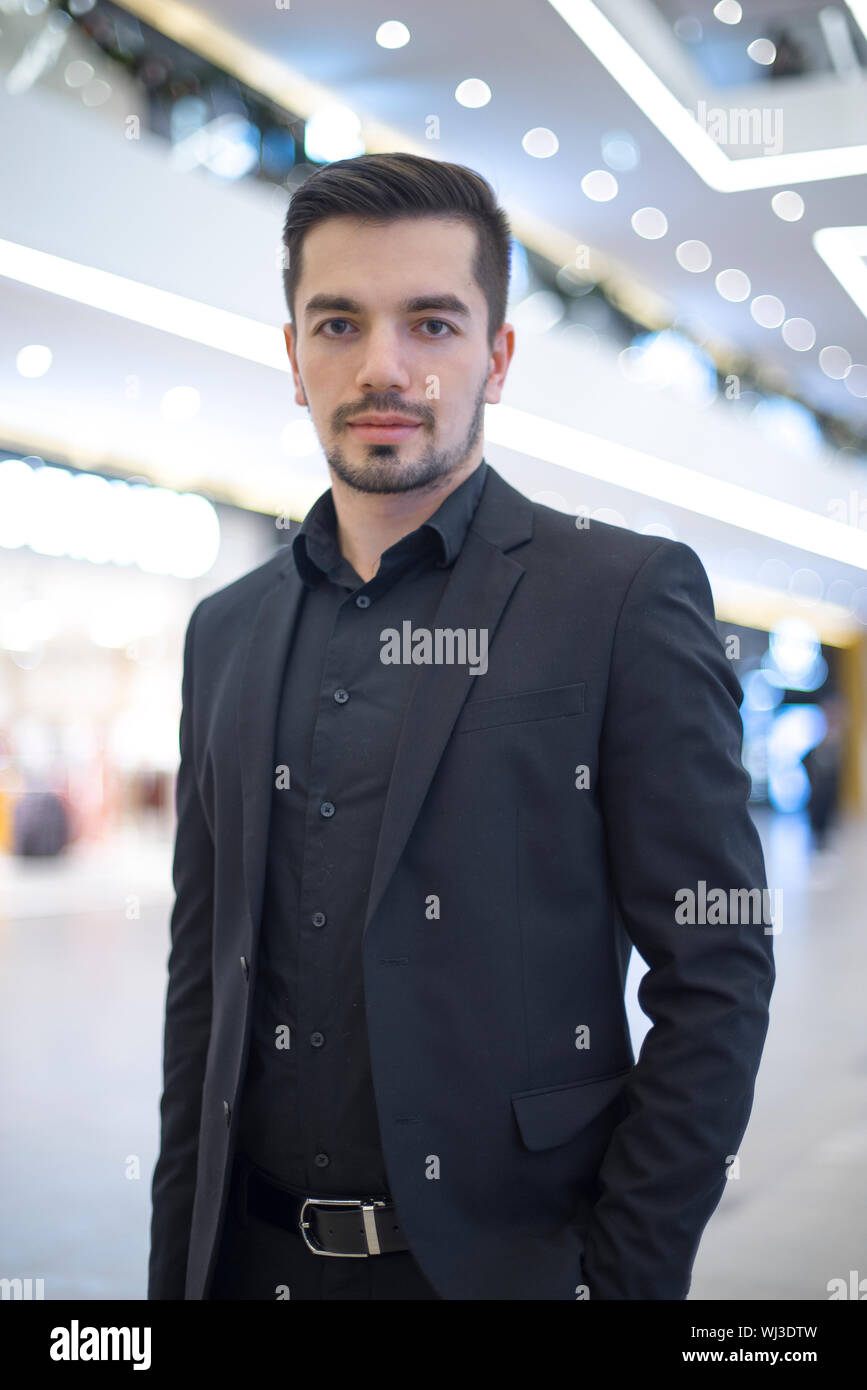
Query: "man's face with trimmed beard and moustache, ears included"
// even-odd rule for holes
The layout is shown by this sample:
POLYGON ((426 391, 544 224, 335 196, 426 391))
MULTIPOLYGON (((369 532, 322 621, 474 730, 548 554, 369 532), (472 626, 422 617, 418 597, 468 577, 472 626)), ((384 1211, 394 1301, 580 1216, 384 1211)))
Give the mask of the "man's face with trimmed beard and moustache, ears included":
POLYGON ((488 346, 475 235, 439 217, 332 217, 304 238, 296 322, 283 327, 295 399, 360 492, 424 488, 482 457, 485 402, 500 399, 514 329, 488 346), (368 414, 410 424, 357 423, 368 414))

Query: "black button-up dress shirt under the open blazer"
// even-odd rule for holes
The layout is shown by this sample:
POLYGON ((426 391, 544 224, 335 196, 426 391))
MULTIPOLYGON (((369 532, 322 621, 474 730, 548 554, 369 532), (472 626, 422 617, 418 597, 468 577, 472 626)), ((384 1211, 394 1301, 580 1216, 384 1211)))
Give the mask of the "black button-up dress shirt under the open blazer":
POLYGON ((332 492, 292 539, 304 584, 274 745, 274 790, 239 1148, 317 1197, 388 1195, 371 1076, 361 935, 413 664, 383 628, 435 627, 488 464, 364 582, 340 555, 332 492), (367 610, 374 612, 368 613, 367 610), (282 771, 281 771, 282 769, 282 771))

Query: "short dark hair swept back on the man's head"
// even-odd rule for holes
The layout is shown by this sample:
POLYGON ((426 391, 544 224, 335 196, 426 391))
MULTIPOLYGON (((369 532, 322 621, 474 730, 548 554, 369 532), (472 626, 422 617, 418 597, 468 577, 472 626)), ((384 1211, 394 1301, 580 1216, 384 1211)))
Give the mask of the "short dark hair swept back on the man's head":
POLYGON ((392 222, 402 217, 454 217, 477 229, 472 275, 488 300, 488 346, 506 318, 511 229, 493 189, 475 170, 420 154, 358 154, 315 170, 292 195, 283 224, 283 291, 295 322, 306 232, 327 217, 392 222))

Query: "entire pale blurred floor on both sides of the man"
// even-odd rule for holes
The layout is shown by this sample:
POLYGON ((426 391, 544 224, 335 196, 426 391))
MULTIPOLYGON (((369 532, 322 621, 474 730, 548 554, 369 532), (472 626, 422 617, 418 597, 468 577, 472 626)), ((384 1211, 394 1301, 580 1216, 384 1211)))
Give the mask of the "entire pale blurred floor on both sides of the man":
MULTIPOLYGON (((753 1118, 691 1298, 824 1300, 867 1276, 867 840, 811 863, 799 816, 757 812, 784 890, 753 1118)), ((51 1298, 143 1298, 158 1140, 171 845, 131 831, 64 863, 0 860, 0 1277, 51 1298)), ((636 1049, 647 1020, 635 1004, 636 1049)))

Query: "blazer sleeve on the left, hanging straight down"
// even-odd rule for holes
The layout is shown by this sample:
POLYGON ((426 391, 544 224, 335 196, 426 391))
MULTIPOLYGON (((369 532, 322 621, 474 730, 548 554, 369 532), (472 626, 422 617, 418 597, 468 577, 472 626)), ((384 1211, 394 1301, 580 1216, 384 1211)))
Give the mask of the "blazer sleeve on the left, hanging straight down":
POLYGON ((201 1090, 211 1033, 214 842, 193 756, 193 651, 199 605, 183 646, 181 766, 175 788, 175 903, 165 995, 160 1155, 151 1186, 147 1298, 183 1298, 190 1238, 201 1090))

